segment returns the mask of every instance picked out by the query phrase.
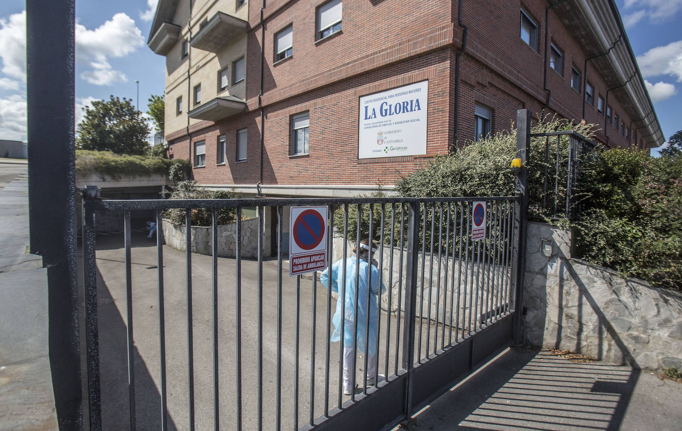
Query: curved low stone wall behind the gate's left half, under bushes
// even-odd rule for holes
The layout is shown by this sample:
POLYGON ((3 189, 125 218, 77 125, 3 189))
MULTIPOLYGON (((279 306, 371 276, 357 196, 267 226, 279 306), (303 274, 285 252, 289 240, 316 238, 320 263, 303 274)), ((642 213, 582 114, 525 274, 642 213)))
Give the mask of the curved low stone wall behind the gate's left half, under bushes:
MULTIPOLYGON (((241 257, 258 257, 258 219, 241 222, 241 257)), ((192 226, 192 252, 212 255, 213 227, 192 226)), ((186 250, 185 226, 173 225, 164 219, 164 240, 179 251, 186 250)), ((218 256, 235 257, 237 251, 237 223, 218 226, 218 256)))

